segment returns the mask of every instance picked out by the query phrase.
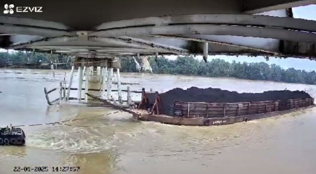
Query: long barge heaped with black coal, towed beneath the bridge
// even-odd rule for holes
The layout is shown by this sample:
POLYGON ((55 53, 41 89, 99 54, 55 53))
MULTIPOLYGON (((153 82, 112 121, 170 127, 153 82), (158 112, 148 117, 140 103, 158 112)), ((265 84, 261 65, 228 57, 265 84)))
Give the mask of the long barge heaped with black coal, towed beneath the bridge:
POLYGON ((133 118, 174 125, 211 126, 247 122, 314 107, 314 99, 304 91, 237 93, 191 87, 166 93, 146 93, 130 109, 133 118))

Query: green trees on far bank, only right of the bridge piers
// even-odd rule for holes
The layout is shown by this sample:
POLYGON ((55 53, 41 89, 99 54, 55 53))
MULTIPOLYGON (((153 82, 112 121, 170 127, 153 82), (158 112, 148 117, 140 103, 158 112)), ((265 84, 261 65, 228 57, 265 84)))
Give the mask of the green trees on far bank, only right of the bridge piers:
MULTIPOLYGON (((229 63, 222 59, 213 59, 208 63, 203 60, 196 60, 192 56, 177 57, 176 60, 169 60, 160 57, 155 62, 154 57, 149 58, 153 73, 157 74, 181 74, 197 75, 206 77, 234 77, 239 79, 279 81, 288 83, 315 84, 316 72, 296 70, 294 68, 282 69, 280 66, 260 63, 229 63)), ((122 58, 123 72, 137 72, 132 59, 122 58)))

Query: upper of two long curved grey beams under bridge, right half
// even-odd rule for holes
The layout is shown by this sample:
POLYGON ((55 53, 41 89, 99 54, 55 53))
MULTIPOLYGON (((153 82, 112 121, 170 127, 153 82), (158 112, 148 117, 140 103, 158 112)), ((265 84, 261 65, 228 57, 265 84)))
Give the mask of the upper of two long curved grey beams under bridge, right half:
MULTIPOLYGON (((316 0, 315 0, 316 1, 316 0)), ((213 24, 213 25, 239 25, 256 27, 282 27, 286 29, 316 32, 316 21, 305 19, 275 17, 266 15, 242 15, 242 14, 194 14, 175 15, 163 17, 148 17, 123 21, 103 23, 96 30, 108 30, 116 28, 128 28, 137 26, 164 26, 175 24, 213 24)), ((93 34, 92 34, 93 35, 93 34)))

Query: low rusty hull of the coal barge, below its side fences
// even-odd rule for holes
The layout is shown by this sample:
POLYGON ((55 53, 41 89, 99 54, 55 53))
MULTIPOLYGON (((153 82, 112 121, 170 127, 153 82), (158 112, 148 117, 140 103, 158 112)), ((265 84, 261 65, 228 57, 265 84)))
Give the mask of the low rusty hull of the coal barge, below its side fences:
POLYGON ((214 118, 185 118, 185 117, 172 117, 167 115, 155 115, 155 114, 140 114, 134 113, 133 118, 141 121, 152 121, 160 122, 164 124, 173 124, 173 125, 185 125, 185 126, 214 126, 214 125, 225 125, 233 124, 243 121, 255 120, 260 118, 272 117, 277 115, 283 115, 295 111, 301 111, 308 108, 313 108, 316 105, 310 105, 307 107, 293 108, 283 111, 273 111, 266 112, 262 114, 252 114, 252 115, 242 115, 236 117, 214 117, 214 118))

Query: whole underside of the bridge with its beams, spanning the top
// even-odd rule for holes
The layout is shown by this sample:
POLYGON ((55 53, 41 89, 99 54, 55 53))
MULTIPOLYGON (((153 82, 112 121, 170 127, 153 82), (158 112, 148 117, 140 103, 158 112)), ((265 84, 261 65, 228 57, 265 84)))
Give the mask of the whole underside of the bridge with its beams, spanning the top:
POLYGON ((316 21, 295 19, 291 10, 315 3, 7 0, 0 5, 43 7, 43 12, 1 12, 0 47, 87 58, 158 53, 316 59, 316 21))

